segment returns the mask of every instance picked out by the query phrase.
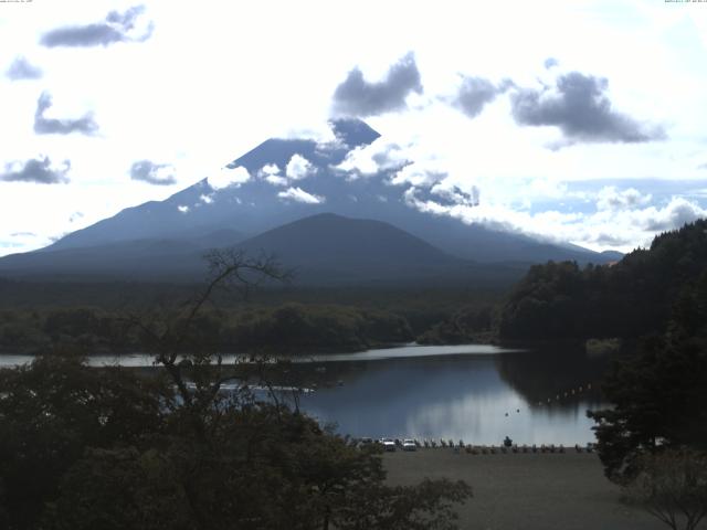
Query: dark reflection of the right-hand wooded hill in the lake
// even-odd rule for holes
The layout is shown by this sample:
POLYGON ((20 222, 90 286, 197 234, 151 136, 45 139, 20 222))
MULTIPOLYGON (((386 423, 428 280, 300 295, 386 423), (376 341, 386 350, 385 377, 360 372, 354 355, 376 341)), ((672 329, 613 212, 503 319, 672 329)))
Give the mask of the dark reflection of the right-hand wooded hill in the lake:
POLYGON ((610 359, 589 358, 583 349, 564 347, 507 353, 497 356, 495 362, 503 380, 529 403, 547 404, 550 399, 552 406, 564 406, 579 400, 601 402, 599 381, 610 359), (587 391, 588 383, 592 386, 591 391, 587 391), (572 390, 576 392, 573 395, 572 390))

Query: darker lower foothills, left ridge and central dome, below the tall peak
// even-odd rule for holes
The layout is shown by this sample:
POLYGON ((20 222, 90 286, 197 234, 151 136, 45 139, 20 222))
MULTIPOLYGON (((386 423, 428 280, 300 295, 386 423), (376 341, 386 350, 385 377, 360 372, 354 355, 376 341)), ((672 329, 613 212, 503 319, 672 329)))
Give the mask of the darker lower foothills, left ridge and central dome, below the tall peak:
MULTIPOLYGON (((0 259, 0 274, 15 278, 200 280, 205 272, 203 243, 218 243, 231 235, 232 232, 215 233, 202 244, 137 240, 15 254, 0 259)), ((331 213, 300 219, 229 246, 251 256, 274 255, 283 268, 295 272, 297 285, 469 280, 506 285, 524 271, 518 266, 471 263, 389 223, 331 213)))

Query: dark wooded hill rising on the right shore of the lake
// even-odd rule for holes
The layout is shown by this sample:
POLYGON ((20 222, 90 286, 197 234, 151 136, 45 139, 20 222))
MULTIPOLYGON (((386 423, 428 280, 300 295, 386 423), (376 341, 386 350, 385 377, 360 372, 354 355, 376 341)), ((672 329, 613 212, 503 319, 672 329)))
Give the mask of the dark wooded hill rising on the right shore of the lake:
POLYGON ((613 265, 530 267, 498 320, 502 339, 636 338, 664 331, 707 269, 707 221, 655 237, 613 265))

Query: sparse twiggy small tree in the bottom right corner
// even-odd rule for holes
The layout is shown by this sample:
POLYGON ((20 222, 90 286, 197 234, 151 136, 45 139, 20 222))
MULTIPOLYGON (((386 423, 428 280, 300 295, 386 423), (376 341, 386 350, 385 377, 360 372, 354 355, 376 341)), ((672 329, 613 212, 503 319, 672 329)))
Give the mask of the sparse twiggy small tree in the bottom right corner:
POLYGON ((694 530, 707 516, 707 456, 666 449, 641 458, 641 473, 625 488, 639 504, 673 530, 694 530))

